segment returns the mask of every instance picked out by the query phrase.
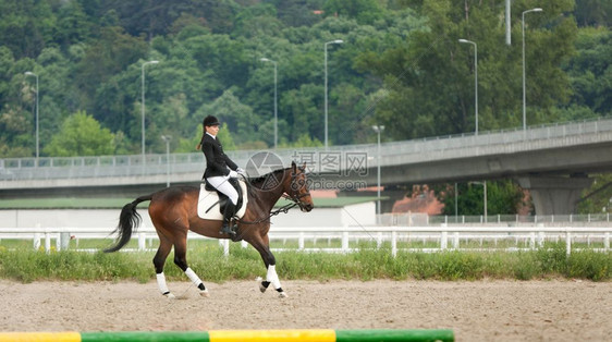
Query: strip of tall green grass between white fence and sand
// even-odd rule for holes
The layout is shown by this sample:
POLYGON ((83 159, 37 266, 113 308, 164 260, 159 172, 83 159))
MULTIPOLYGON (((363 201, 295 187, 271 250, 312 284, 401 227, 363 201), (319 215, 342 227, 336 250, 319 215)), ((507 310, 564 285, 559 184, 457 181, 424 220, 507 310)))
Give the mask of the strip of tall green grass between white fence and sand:
MULTIPOLYGON (((0 245, 0 278, 21 282, 37 280, 147 282, 155 279, 152 257, 155 252, 83 253, 75 251, 33 251, 27 247, 0 245)), ((327 242, 326 242, 327 244, 327 242)), ((105 245, 106 246, 106 245, 105 245)), ((364 244, 369 246, 369 244, 364 244)), ((390 248, 363 248, 351 254, 303 253, 290 251, 276 253, 277 269, 282 279, 423 279, 423 280, 479 280, 479 279, 554 279, 578 278, 610 281, 612 253, 592 251, 565 255, 565 245, 548 244, 546 248, 515 253, 404 253, 391 256, 390 248)), ((186 280, 173 265, 173 254, 168 257, 164 273, 169 280, 186 280)), ((259 254, 252 247, 232 244, 230 256, 224 257, 216 241, 191 244, 187 261, 201 279, 224 282, 234 279, 264 277, 266 270, 259 254), (195 246, 194 246, 195 245, 195 246)))

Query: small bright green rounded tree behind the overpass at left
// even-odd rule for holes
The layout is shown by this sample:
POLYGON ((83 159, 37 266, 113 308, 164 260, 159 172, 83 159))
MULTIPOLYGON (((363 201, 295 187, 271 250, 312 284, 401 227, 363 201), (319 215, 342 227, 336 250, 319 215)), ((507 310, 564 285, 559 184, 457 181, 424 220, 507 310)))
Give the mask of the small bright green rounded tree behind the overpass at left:
POLYGON ((107 156, 114 152, 114 136, 84 111, 69 117, 45 152, 52 157, 107 156))

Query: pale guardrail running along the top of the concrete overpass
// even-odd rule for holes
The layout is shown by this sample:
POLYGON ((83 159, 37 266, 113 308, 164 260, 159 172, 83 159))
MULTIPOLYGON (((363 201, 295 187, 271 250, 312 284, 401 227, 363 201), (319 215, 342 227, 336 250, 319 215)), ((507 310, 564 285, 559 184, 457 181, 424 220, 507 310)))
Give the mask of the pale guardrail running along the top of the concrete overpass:
MULTIPOLYGON (((380 163, 382 167, 405 162, 443 160, 448 158, 507 154, 514 151, 537 150, 560 146, 576 146, 612 141, 612 119, 542 125, 526 131, 480 132, 478 135, 461 134, 428 137, 406 142, 383 143, 380 163), (397 158, 400 157, 400 158, 397 158)), ((248 159, 260 150, 229 151, 228 155, 238 164, 246 164, 248 159)), ((305 155, 321 156, 346 155, 358 152, 378 156, 376 144, 332 146, 325 148, 287 148, 273 150, 285 164, 296 157, 305 155)), ((201 152, 166 154, 98 157, 44 157, 44 158, 5 158, 0 159, 0 181, 19 180, 57 180, 75 178, 143 176, 167 173, 201 172, 204 156, 201 152)), ((315 164, 316 168, 319 166, 315 164)), ((348 170, 350 161, 344 158, 340 169, 348 170)), ((375 166, 372 164, 371 168, 375 166)), ((315 169, 321 172, 325 170, 315 169)))

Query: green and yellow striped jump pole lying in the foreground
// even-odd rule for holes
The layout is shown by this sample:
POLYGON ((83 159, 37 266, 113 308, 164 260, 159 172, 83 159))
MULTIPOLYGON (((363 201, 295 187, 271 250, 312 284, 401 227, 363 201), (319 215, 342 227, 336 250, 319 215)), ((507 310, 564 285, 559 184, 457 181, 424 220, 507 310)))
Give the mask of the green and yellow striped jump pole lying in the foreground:
POLYGON ((108 332, 0 332, 0 342, 400 342, 454 341, 454 332, 446 329, 364 329, 364 330, 211 330, 211 331, 108 331, 108 332))

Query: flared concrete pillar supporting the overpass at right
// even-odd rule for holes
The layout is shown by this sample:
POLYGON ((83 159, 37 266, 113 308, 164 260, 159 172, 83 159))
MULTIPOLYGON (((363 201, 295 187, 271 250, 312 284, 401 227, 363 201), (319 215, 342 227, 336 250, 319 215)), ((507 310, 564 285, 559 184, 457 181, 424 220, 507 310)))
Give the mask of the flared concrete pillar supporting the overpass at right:
POLYGON ((580 174, 572 176, 529 175, 518 178, 518 184, 529 190, 537 215, 568 215, 576 212, 576 204, 592 179, 580 174))

